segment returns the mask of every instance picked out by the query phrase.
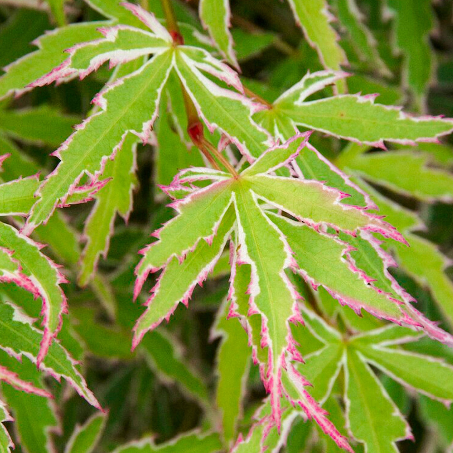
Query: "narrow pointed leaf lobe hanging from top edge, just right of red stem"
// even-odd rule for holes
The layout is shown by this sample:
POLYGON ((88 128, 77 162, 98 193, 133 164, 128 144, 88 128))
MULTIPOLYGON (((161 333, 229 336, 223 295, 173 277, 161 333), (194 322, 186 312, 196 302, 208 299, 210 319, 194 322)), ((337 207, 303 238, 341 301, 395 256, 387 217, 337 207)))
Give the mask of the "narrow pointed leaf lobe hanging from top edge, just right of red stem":
POLYGON ((233 50, 233 38, 229 27, 231 12, 228 0, 201 0, 199 14, 203 27, 207 29, 222 55, 239 68, 233 50))

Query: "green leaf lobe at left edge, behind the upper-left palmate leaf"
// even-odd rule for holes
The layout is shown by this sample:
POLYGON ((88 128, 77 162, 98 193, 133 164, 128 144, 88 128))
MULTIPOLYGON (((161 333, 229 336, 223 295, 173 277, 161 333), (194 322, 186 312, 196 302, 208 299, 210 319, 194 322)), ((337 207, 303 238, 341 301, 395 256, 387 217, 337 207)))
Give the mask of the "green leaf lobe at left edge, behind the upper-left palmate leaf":
POLYGON ((90 41, 99 36, 98 27, 108 22, 83 22, 53 30, 34 41, 39 48, 5 67, 6 74, 0 77, 0 99, 29 90, 34 80, 63 63, 67 56, 63 51, 76 43, 90 41))

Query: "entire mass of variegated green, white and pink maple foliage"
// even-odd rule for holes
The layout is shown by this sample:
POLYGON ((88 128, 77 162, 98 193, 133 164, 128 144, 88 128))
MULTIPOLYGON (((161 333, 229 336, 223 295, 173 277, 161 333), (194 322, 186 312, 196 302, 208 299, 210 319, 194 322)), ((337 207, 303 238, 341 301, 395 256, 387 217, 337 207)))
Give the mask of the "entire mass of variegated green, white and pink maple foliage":
MULTIPOLYGON (((240 75, 242 62, 288 44, 243 30, 235 48, 227 0, 201 0, 199 20, 179 2, 90 0, 83 8, 105 20, 69 25, 63 2, 49 2, 60 28, 0 76, 1 451, 395 452, 414 439, 404 388, 442 431, 451 413, 436 404, 453 400, 450 262, 416 234, 423 210, 395 193, 451 202, 451 149, 439 139, 453 120, 381 104, 365 79, 365 94, 352 91, 348 59, 383 77, 400 64, 413 110, 426 109, 434 21, 420 16, 423 36, 408 44, 418 31, 401 18, 419 10, 386 3, 390 23, 373 32, 394 30, 399 63, 353 0, 331 2, 339 29, 325 0, 291 0, 316 63, 296 52, 297 81, 279 85, 274 68, 265 86, 240 75), (88 80, 67 83, 76 77, 88 80), (54 93, 54 82, 100 88, 72 132, 78 114, 27 94, 54 93), (12 95, 33 106, 15 108, 12 95), (58 164, 30 159, 39 146, 58 164), (429 316, 414 305, 412 293, 428 297, 422 286, 429 316), (198 325, 210 311, 218 347, 206 359, 198 325), (197 368, 209 367, 208 382, 197 368), (162 396, 162 383, 177 392, 162 396), (96 412, 76 424, 82 399, 96 412), (151 414, 151 400, 165 415, 151 414), (197 416, 181 421, 179 406, 197 416)), ((20 14, 7 31, 26 22, 20 14)), ((445 431, 438 448, 453 442, 445 431)))

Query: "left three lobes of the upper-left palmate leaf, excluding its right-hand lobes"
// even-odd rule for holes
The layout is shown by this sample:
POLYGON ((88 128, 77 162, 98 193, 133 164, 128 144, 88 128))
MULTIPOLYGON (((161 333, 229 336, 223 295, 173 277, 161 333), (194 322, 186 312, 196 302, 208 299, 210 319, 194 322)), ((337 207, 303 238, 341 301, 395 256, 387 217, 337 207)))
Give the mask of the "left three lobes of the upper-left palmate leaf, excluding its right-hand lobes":
POLYGON ((154 53, 139 70, 99 93, 94 102, 101 111, 82 123, 54 153, 61 162, 38 191, 38 200, 24 228, 27 234, 45 222, 58 203, 65 203, 83 173, 96 180, 106 159, 120 151, 128 131, 145 142, 149 139, 150 127, 158 113, 160 92, 172 67, 171 37, 151 14, 138 10, 135 5, 130 5, 130 10, 134 14, 143 13, 140 18, 155 33, 127 26, 102 29, 105 39, 75 46, 70 58, 34 82, 37 86, 73 73, 84 76, 108 59, 116 65, 154 53))

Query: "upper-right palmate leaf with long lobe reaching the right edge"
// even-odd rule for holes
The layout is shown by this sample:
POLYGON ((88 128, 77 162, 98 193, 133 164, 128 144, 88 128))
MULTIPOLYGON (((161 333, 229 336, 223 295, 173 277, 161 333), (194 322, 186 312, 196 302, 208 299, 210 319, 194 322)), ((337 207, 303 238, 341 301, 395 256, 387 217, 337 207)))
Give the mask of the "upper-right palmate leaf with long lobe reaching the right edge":
POLYGON ((375 95, 339 95, 315 101, 307 97, 344 77, 342 72, 314 72, 284 92, 272 110, 255 114, 254 119, 276 137, 288 139, 285 130, 296 126, 319 130, 337 138, 384 148, 384 142, 414 144, 435 141, 453 129, 450 119, 414 117, 397 107, 375 104, 375 95))

